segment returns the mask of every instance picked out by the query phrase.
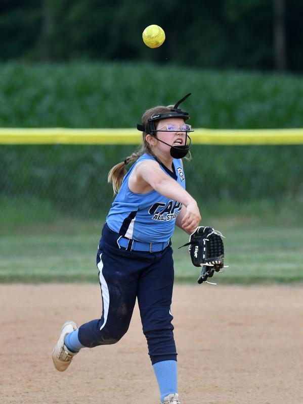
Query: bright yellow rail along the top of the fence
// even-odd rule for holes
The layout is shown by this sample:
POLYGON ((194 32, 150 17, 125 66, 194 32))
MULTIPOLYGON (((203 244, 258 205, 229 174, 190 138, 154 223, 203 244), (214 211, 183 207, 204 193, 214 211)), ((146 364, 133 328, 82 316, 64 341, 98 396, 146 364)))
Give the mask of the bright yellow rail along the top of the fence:
MULTIPOLYGON (((303 144, 303 129, 195 129, 195 144, 303 144)), ((0 128, 0 144, 139 144, 136 129, 0 128)))

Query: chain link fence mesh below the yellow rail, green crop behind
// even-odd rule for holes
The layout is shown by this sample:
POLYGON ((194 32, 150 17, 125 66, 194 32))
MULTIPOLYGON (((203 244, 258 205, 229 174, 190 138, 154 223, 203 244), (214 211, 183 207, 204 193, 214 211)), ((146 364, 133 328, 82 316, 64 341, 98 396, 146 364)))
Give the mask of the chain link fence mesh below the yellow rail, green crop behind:
MULTIPOLYGON (((113 200, 107 174, 134 145, 2 145, 2 231, 61 218, 104 218, 113 200)), ((188 191, 212 216, 274 214, 300 206, 302 145, 194 145, 184 161, 188 191)), ((289 212, 289 215, 291 212, 289 212)))

